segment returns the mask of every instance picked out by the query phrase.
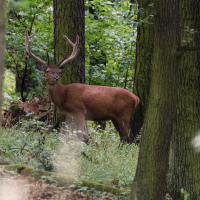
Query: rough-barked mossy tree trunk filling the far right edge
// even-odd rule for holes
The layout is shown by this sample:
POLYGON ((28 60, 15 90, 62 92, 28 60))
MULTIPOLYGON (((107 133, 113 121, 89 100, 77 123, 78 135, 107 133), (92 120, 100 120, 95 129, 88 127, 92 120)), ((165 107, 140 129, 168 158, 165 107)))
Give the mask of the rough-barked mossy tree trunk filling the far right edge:
MULTIPOLYGON (((181 25, 197 30, 191 42, 181 45, 200 45, 200 1, 182 0, 181 25)), ((182 32, 181 41, 187 41, 188 32, 182 32)), ((200 199, 200 155, 195 153, 191 140, 200 130, 200 51, 180 51, 178 64, 178 99, 174 130, 170 148, 168 192, 173 200, 183 197, 181 188, 189 193, 189 199, 200 199)))

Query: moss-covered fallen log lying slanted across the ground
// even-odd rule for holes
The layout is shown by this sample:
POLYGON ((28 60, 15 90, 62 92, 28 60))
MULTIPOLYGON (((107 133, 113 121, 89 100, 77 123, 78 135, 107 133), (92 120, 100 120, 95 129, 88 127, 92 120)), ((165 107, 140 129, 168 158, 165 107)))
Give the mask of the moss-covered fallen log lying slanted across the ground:
MULTIPOLYGON (((76 177, 66 175, 66 174, 58 174, 54 172, 47 172, 47 171, 40 171, 36 169, 32 169, 26 165, 0 165, 0 168, 4 168, 8 171, 15 171, 17 173, 20 173, 21 170, 24 170, 24 176, 31 176, 34 177, 36 180, 41 179, 42 176, 56 176, 56 181, 58 181, 58 184, 60 186, 66 186, 74 183, 74 181, 77 179, 76 177)), ((127 190, 120 190, 118 188, 106 186, 100 183, 96 183, 94 181, 89 181, 86 179, 78 179, 82 182, 82 186, 88 187, 88 188, 95 188, 98 191, 101 192, 109 192, 114 195, 119 195, 124 192, 128 192, 127 190)))

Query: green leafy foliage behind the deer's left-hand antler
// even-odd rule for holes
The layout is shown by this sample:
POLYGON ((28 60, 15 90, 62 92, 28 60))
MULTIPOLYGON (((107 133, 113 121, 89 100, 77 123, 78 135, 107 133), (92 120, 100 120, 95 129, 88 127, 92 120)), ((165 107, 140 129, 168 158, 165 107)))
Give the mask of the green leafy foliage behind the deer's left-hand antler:
POLYGON ((6 68, 10 68, 16 74, 22 85, 25 81, 26 91, 21 94, 22 100, 25 101, 35 95, 46 95, 44 74, 36 69, 35 62, 29 59, 24 43, 26 29, 29 30, 29 34, 36 32, 30 41, 31 50, 46 60, 45 49, 48 48, 50 58, 53 58, 52 1, 35 0, 23 7, 21 4, 17 5, 12 1, 8 2, 6 68))

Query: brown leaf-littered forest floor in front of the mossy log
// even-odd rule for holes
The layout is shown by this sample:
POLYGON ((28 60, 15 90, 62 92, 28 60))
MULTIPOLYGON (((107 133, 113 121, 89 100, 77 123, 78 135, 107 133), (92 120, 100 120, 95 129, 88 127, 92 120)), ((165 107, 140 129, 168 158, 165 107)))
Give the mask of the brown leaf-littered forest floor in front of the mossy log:
MULTIPOLYGON (((23 171, 21 172, 23 174, 23 171)), ((111 193, 99 192, 94 189, 59 187, 56 183, 46 183, 44 180, 35 180, 33 177, 24 177, 13 173, 1 173, 0 175, 0 199, 1 200, 38 200, 38 199, 128 199, 128 197, 116 197, 111 193)))

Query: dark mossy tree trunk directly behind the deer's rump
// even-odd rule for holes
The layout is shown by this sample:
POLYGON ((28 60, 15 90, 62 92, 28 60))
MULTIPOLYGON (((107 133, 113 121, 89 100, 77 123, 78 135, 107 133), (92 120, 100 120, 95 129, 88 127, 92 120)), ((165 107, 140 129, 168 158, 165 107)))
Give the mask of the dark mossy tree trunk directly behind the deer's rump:
MULTIPOLYGON (((138 9, 143 8, 138 13, 138 20, 144 20, 153 13, 153 7, 148 6, 152 4, 153 0, 138 1, 138 9)), ((133 93, 137 95, 141 102, 134 112, 131 119, 131 132, 135 138, 144 121, 145 113, 149 102, 149 90, 151 82, 151 67, 154 47, 154 25, 153 19, 150 24, 143 23, 137 28, 137 42, 136 42, 136 62, 133 93)))

